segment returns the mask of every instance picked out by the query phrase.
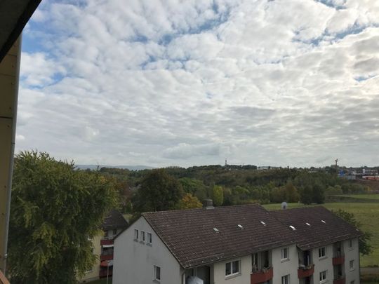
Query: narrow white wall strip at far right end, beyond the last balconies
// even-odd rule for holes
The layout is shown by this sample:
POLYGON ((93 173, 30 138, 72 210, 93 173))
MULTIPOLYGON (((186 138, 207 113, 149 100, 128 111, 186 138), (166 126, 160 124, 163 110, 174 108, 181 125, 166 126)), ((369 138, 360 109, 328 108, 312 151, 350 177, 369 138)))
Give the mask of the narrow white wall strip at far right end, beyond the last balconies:
POLYGON ((359 284, 359 245, 358 238, 352 240, 352 248, 349 248, 349 241, 343 241, 343 252, 345 254, 345 283, 359 284), (354 269, 350 270, 350 260, 354 260, 354 269))

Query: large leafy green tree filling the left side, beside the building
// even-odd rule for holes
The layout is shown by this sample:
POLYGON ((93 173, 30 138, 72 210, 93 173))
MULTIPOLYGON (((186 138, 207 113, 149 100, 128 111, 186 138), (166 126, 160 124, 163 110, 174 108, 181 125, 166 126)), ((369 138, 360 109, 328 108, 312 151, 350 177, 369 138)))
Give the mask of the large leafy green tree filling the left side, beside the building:
POLYGON ((8 264, 12 283, 76 283, 93 266, 88 240, 116 204, 113 184, 47 153, 15 158, 8 264))

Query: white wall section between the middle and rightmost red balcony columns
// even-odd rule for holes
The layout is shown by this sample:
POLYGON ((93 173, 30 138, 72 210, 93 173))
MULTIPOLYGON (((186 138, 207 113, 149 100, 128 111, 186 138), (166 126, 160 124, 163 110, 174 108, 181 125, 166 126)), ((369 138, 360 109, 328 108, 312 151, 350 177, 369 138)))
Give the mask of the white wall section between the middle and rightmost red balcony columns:
MULTIPOLYGON (((320 283, 320 272, 326 272, 326 280, 328 283, 333 283, 334 271, 333 271, 333 244, 325 246, 325 257, 319 258, 319 248, 312 250, 312 263, 314 264, 313 283, 320 283)), ((326 281, 325 281, 326 282, 326 281)))

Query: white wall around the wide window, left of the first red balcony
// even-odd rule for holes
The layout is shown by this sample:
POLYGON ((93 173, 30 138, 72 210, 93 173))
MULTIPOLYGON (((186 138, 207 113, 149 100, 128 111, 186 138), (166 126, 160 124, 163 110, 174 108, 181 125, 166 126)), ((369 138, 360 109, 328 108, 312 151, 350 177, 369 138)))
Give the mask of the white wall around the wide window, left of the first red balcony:
MULTIPOLYGON (((211 270, 212 271, 212 270, 211 270)), ((225 262, 217 262, 213 264, 213 282, 212 284, 241 284, 250 283, 251 275, 251 255, 245 257, 237 257, 235 259, 229 259, 225 262), (235 276, 225 277, 225 264, 227 262, 233 262, 240 260, 240 273, 235 276)), ((211 277, 212 278, 212 277, 211 277)))

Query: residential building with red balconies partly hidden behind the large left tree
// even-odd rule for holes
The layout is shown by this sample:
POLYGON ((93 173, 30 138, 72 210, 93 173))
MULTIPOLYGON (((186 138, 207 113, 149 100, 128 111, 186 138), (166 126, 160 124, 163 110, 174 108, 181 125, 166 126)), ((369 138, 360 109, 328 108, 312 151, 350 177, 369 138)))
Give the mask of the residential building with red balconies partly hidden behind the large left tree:
POLYGON ((92 239, 93 254, 96 255, 96 262, 91 270, 79 281, 81 283, 112 276, 114 238, 128 227, 128 222, 117 210, 112 210, 105 218, 101 229, 102 233, 92 239))

